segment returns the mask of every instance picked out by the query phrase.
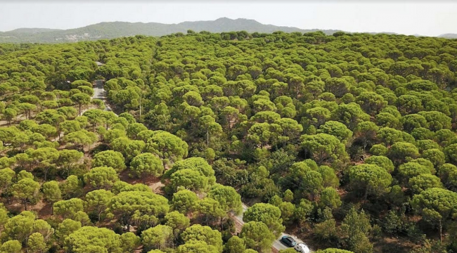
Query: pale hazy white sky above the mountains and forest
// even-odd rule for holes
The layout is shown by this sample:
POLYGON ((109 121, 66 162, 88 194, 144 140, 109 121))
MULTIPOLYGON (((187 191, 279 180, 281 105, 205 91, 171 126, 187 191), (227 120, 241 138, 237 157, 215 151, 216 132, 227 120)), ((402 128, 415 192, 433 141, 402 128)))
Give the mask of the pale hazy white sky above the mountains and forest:
POLYGON ((0 31, 76 28, 103 21, 177 23, 221 17, 349 32, 457 33, 457 1, 24 1, 0 0, 0 31))

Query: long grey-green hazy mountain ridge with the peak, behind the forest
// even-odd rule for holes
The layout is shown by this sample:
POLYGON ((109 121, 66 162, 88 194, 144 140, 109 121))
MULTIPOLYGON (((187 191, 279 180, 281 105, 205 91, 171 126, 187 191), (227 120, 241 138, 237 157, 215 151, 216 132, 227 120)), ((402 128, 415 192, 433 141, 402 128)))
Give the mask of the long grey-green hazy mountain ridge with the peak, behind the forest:
POLYGON ((101 22, 95 25, 79 27, 68 30, 46 28, 20 28, 8 32, 0 32, 0 42, 10 43, 58 43, 75 42, 96 39, 113 39, 117 37, 134 36, 138 34, 147 36, 163 36, 176 32, 186 33, 187 30, 195 32, 316 32, 333 34, 340 30, 303 30, 297 27, 284 27, 264 25, 256 20, 245 18, 230 19, 218 18, 210 21, 186 21, 178 24, 162 24, 158 22, 101 22))

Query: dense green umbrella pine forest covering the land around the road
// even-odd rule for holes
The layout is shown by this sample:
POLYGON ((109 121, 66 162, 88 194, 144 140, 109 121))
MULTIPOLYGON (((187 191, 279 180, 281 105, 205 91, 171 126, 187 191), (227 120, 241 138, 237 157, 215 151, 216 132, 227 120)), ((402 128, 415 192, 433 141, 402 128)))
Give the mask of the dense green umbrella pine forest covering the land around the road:
POLYGON ((283 232, 457 252, 456 56, 344 32, 0 44, 0 253, 276 252, 283 232))

